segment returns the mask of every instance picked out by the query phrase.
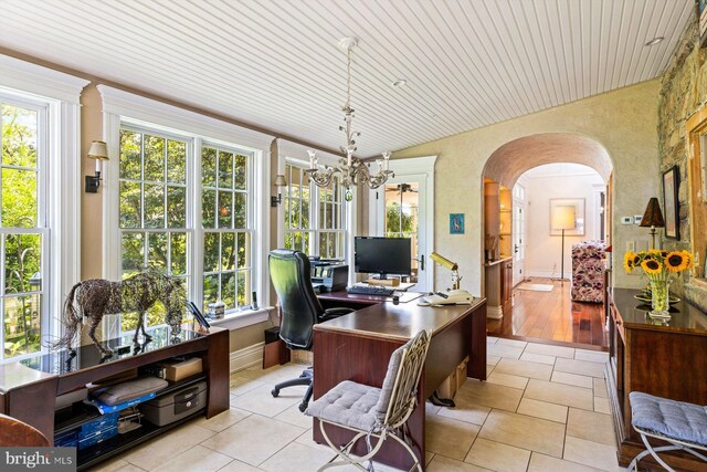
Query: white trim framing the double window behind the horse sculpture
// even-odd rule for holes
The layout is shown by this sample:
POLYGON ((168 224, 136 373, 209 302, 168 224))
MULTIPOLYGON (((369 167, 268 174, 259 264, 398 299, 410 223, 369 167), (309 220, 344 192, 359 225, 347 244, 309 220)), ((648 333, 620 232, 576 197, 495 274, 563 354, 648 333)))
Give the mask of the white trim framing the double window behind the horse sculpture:
MULTIPOLYGON (((109 156, 115 156, 104 166, 103 199, 103 276, 115 279, 119 274, 120 241, 115 228, 118 221, 119 192, 119 133, 122 123, 146 126, 152 129, 165 129, 179 133, 201 144, 223 143, 229 146, 253 153, 253 228, 256 235, 252 238, 254 276, 253 289, 257 292, 261 306, 270 305, 267 247, 270 241, 270 146, 273 136, 258 133, 209 116, 200 115, 177 106, 145 98, 118 88, 98 85, 103 99, 103 135, 108 146, 109 156)), ((200 147, 194 146, 199 153, 200 147)), ((194 156, 193 162, 197 161, 194 156)), ((196 179, 200 169, 191 172, 196 179)), ((197 222, 194 222, 196 224, 197 222)), ((199 241, 194 238, 194 244, 199 241)), ((192 276, 198 277, 196 264, 192 264, 192 276)), ((196 279, 194 279, 196 280, 196 279)), ((194 282, 194 286, 197 283, 194 282)), ((241 312, 244 316, 247 311, 241 312)))

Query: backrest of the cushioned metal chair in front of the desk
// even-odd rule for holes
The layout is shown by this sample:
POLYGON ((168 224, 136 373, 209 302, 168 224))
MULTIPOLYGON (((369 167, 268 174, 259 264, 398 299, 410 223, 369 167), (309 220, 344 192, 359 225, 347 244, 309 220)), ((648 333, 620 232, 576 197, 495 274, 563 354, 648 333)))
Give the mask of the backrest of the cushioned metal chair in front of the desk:
POLYGON ((432 336, 421 331, 390 356, 388 371, 376 405, 376 415, 388 428, 404 423, 415 408, 418 385, 432 336))

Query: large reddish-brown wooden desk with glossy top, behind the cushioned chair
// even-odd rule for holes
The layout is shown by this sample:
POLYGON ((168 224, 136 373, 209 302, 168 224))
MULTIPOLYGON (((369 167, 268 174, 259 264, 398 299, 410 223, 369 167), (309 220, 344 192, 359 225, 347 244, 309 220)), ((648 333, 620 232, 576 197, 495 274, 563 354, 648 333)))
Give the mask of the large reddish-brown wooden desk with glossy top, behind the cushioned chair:
MULTIPOLYGON (((432 332, 432 343, 420 379, 418 407, 408 427, 413 450, 424 464, 425 399, 466 356, 466 375, 486 380, 486 298, 475 298, 473 305, 445 307, 418 306, 415 302, 378 303, 315 325, 314 397, 321 397, 342 380, 381 387, 392 352, 420 329, 432 332)), ((314 439, 324 442, 317 422, 314 439)), ((330 434, 341 444, 351 436, 338 428, 333 428, 330 434)), ((410 455, 393 441, 388 441, 376 460, 403 470, 412 466, 410 455)))

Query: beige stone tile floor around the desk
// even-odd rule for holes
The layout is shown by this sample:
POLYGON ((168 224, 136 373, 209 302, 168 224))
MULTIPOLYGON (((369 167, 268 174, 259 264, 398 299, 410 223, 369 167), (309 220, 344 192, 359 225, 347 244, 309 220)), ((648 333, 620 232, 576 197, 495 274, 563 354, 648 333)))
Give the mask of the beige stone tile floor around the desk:
MULTIPOLYGON (((606 359, 606 353, 489 337, 488 381, 468 379, 454 409, 426 405, 426 470, 622 470, 603 376, 606 359)), ((302 368, 235 373, 229 411, 194 420, 95 470, 316 471, 334 454, 312 440, 312 420, 297 410, 304 387, 270 395, 273 384, 302 368)))

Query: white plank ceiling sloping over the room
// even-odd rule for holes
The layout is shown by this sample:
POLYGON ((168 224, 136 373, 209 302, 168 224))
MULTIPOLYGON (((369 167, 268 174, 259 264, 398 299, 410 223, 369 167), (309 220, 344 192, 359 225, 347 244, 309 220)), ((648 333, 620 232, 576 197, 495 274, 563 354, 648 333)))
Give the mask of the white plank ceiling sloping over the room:
POLYGON ((371 156, 656 77, 693 14, 694 0, 0 0, 0 46, 337 149, 337 44, 356 36, 371 156))

